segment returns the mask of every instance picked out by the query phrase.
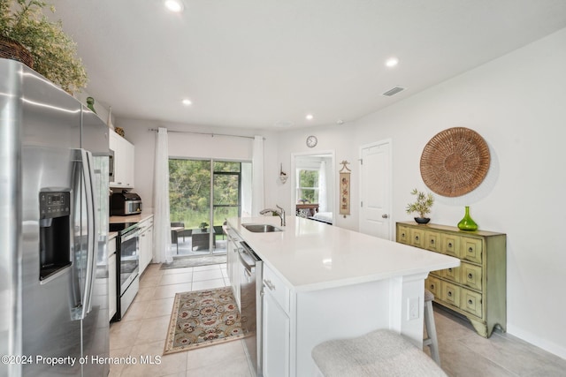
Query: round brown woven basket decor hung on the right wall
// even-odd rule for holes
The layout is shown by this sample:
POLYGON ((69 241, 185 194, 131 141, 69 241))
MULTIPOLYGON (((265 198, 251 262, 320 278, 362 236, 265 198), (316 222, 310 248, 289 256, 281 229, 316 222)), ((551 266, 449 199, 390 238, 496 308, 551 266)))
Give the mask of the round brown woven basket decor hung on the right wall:
POLYGON ((461 196, 482 183, 489 163, 489 148, 478 132, 464 127, 448 128, 424 146, 421 177, 432 192, 461 196))

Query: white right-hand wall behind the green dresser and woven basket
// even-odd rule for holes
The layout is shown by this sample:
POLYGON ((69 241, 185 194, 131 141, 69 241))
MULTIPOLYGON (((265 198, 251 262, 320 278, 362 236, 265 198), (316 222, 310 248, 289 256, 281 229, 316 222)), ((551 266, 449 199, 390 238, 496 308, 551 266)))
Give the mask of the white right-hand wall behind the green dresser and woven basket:
POLYGON ((404 212, 410 190, 426 189, 419 160, 428 140, 455 126, 486 139, 493 159, 486 182, 461 198, 437 195, 432 222, 455 225, 470 205, 480 229, 507 233, 508 331, 562 358, 565 67, 563 29, 363 117, 356 121, 355 143, 393 139, 393 217, 404 221, 411 218, 404 212))

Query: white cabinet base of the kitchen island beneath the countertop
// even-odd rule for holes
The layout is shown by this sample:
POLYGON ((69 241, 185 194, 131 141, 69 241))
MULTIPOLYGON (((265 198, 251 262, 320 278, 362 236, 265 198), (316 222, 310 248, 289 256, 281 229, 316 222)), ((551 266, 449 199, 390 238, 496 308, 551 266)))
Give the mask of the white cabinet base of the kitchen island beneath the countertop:
MULTIPOLYGON (((311 351, 318 343, 362 336, 377 328, 394 328, 391 318, 402 317, 402 313, 401 305, 392 307, 391 292, 408 290, 410 284, 420 284, 422 292, 424 282, 424 278, 418 283, 384 279, 297 291, 279 276, 264 263, 265 377, 317 375, 311 351), (384 308, 391 308, 394 314, 384 308), (352 315, 355 320, 350 320, 352 315)), ((420 326, 422 343, 422 319, 420 325, 418 320, 412 322, 420 326)), ((407 331, 403 324, 400 326, 407 331)))

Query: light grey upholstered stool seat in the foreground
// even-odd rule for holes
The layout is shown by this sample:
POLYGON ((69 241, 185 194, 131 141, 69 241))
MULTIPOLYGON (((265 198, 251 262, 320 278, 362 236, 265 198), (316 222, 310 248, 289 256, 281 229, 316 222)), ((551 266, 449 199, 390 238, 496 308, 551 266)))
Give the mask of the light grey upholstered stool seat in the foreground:
POLYGON ((325 377, 446 376, 409 339, 388 329, 320 343, 312 358, 325 377))

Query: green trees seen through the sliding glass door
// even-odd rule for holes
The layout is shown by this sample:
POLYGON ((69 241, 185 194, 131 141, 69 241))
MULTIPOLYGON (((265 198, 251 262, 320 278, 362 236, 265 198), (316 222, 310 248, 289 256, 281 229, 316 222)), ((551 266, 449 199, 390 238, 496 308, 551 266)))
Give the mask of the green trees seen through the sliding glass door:
MULTIPOLYGON (((240 162, 214 162, 213 225, 240 213, 240 162)), ((169 207, 172 222, 185 229, 210 224, 210 161, 169 160, 169 207)))

